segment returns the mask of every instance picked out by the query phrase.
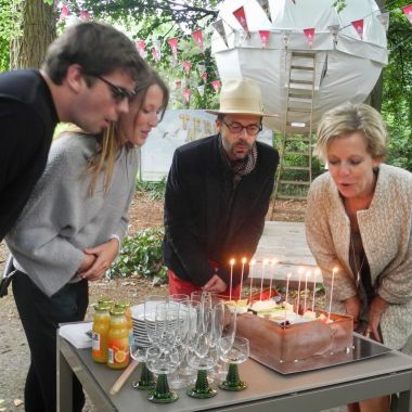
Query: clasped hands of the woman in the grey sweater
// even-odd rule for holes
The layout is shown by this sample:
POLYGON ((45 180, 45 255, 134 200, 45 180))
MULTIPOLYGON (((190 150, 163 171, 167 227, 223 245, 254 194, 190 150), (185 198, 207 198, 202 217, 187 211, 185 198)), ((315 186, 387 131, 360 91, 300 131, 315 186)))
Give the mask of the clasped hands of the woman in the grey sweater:
POLYGON ((88 269, 80 271, 79 276, 88 281, 98 281, 104 276, 106 270, 111 267, 119 249, 119 243, 116 239, 99 246, 85 249, 86 256, 94 256, 94 262, 88 269))

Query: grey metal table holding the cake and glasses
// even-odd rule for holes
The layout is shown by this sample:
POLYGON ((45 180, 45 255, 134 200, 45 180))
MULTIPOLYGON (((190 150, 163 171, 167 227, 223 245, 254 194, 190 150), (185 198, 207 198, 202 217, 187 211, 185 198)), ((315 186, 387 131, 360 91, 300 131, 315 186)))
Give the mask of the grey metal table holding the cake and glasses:
POLYGON ((218 391, 211 399, 192 399, 184 390, 169 404, 155 404, 146 399, 145 391, 131 388, 131 381, 140 369, 126 382, 115 396, 108 390, 121 374, 104 364, 94 363, 90 349, 76 349, 62 336, 57 336, 57 411, 72 411, 72 373, 75 373, 99 412, 316 412, 399 392, 400 412, 412 412, 412 357, 390 351, 379 357, 346 363, 317 371, 292 375, 279 374, 254 360, 240 365, 241 377, 248 388, 241 392, 218 391))

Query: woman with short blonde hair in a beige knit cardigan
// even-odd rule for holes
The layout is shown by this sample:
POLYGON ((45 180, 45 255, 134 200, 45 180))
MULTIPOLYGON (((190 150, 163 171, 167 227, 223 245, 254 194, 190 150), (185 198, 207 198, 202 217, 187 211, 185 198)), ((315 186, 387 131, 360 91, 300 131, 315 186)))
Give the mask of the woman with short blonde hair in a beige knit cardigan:
MULTIPOLYGON (((383 164, 387 131, 378 112, 344 104, 320 121, 316 153, 329 172, 309 191, 306 234, 333 310, 358 332, 411 355, 412 173, 383 164), (410 340, 410 342, 408 342, 410 340)), ((348 407, 387 412, 389 396, 348 407)))

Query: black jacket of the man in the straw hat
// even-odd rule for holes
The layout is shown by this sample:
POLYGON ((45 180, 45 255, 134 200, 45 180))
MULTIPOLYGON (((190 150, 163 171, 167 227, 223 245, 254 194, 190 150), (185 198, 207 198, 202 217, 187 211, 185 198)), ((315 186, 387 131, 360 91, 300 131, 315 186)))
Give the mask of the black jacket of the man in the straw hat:
MULTIPOLYGON (((265 227, 279 154, 257 142, 255 169, 233 189, 232 171, 219 154, 219 136, 176 150, 165 198, 165 265, 180 279, 203 286, 219 263, 229 284, 231 258, 247 261, 265 227)), ((246 268, 247 273, 247 268, 246 268)), ((233 285, 241 271, 233 272, 233 285)))

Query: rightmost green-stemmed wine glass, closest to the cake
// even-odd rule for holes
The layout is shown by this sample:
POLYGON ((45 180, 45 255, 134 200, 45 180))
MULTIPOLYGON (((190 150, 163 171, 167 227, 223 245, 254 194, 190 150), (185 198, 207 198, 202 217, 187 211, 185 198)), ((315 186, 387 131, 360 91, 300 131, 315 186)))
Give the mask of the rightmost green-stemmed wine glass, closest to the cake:
POLYGON ((245 337, 235 337, 232 344, 228 336, 220 339, 220 358, 229 362, 228 375, 226 381, 219 384, 220 389, 237 391, 247 388, 247 383, 239 376, 237 364, 245 362, 248 357, 249 340, 245 337))

